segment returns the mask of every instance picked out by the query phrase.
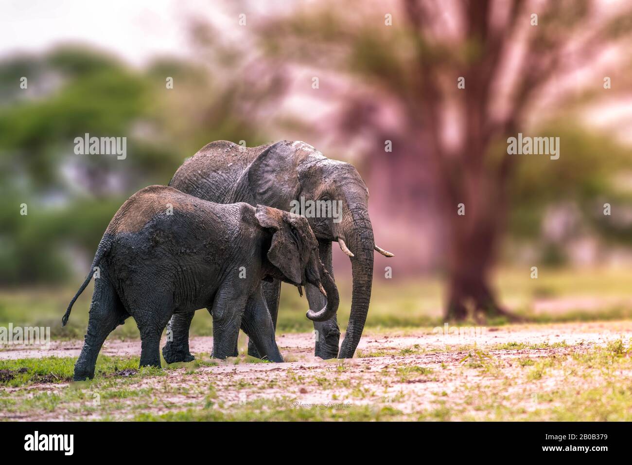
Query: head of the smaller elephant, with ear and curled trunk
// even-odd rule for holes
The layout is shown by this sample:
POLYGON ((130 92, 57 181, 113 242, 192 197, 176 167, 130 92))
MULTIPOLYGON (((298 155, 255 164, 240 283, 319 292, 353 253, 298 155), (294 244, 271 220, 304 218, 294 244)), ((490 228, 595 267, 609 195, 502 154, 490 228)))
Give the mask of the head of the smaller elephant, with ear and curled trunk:
POLYGON ((318 255, 318 241, 305 218, 287 211, 257 205, 255 218, 262 228, 271 232, 266 257, 267 277, 298 286, 315 286, 327 299, 320 311, 310 310, 307 318, 326 321, 336 315, 338 290, 332 276, 325 270, 318 255))

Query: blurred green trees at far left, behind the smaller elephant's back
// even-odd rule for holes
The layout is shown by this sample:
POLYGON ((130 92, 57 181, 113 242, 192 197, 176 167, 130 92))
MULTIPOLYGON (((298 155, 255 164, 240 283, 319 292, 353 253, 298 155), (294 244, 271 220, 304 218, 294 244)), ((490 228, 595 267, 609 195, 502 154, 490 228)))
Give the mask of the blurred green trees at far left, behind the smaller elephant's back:
POLYGON ((234 84, 177 59, 138 70, 90 47, 62 46, 5 59, 0 84, 0 285, 63 281, 69 249, 87 267, 133 192, 168 183, 210 140, 256 139, 233 111, 234 84), (85 133, 126 137, 127 157, 75 154, 85 133))

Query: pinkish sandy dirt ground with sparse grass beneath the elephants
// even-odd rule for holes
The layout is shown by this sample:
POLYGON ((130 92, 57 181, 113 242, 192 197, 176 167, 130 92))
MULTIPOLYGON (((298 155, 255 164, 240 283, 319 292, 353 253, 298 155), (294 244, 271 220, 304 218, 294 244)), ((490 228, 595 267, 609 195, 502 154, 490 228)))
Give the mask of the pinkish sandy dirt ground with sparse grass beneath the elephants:
MULTIPOLYGON (((2 388, 5 395, 23 400, 40 392, 61 400, 48 411, 15 407, 0 411, 0 418, 125 419, 186 412, 185 419, 250 419, 249 412, 258 412, 257 419, 564 419, 584 405, 585 393, 603 388, 607 394, 610 383, 632 385, 629 354, 608 352, 616 340, 629 347, 632 322, 513 325, 448 335, 432 329, 369 331, 358 357, 341 363, 313 357, 312 335, 285 334, 277 342, 287 363, 229 359, 217 366, 190 364, 164 370, 161 376, 109 381, 107 387, 90 387, 90 392, 99 392, 100 398, 109 397, 112 389, 143 394, 132 393, 129 399, 116 395, 116 403, 102 401, 99 407, 64 394, 68 383, 2 388)), ((204 360, 211 345, 212 338, 193 338, 191 351, 204 360)), ((54 342, 49 350, 11 347, 0 351, 0 359, 76 357, 80 349, 78 341, 54 342)), ((140 342, 110 341, 102 354, 138 356, 140 342)), ((600 410, 581 418, 632 418, 632 402, 616 408, 607 410, 605 418, 594 418, 600 410)))

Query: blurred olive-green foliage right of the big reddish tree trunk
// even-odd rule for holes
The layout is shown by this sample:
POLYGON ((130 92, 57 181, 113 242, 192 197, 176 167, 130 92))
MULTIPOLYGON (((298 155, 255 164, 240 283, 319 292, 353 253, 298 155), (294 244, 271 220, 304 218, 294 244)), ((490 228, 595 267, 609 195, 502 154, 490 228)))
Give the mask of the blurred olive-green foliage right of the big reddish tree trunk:
MULTIPOLYGON (((616 182, 617 176, 632 175, 629 151, 611 135, 586 132, 572 121, 554 121, 533 133, 559 137, 560 157, 518 155, 521 163, 510 192, 511 232, 537 238, 546 206, 567 201, 576 204, 583 220, 605 239, 632 244, 632 225, 616 225, 603 213, 606 201, 632 206, 632 193, 616 182)), ((559 263, 558 253, 545 251, 551 264, 559 263)))

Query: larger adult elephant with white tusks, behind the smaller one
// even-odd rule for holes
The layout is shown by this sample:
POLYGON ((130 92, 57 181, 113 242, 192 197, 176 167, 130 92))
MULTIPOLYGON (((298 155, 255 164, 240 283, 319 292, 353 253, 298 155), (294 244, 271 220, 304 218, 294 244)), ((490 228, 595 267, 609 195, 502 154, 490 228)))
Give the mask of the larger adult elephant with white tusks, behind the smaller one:
MULTIPOLYGON (((297 201, 301 202, 301 197, 303 202, 341 201, 337 218, 306 214, 319 241, 320 259, 327 271, 333 276, 331 247, 334 241, 350 257, 353 271, 351 314, 340 352, 340 330, 334 316, 323 323, 314 323, 318 335, 315 356, 323 359, 353 357, 367 320, 374 251, 392 257, 374 243, 368 217, 368 189, 353 165, 328 159, 300 141, 243 147, 218 140, 186 160, 169 185, 212 202, 247 202, 286 211, 297 201)), ((305 290, 311 309, 325 305, 326 299, 318 288, 307 285, 305 290)), ((262 291, 276 328, 281 282, 262 282, 262 291)), ((174 314, 171 318, 168 326, 171 338, 162 350, 168 363, 193 360, 188 344, 192 317, 191 313, 174 314)), ((248 354, 257 356, 257 349, 250 342, 248 354)))

